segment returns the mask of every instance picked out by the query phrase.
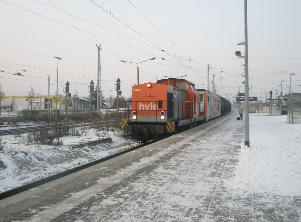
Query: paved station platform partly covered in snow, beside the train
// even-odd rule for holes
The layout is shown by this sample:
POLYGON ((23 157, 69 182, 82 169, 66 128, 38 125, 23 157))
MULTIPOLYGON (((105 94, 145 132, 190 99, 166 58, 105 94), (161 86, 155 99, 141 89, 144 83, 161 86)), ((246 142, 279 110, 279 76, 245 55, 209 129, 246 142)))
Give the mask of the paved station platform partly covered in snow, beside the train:
POLYGON ((236 116, 3 199, 0 221, 300 221, 300 127, 250 114, 248 148, 236 116))

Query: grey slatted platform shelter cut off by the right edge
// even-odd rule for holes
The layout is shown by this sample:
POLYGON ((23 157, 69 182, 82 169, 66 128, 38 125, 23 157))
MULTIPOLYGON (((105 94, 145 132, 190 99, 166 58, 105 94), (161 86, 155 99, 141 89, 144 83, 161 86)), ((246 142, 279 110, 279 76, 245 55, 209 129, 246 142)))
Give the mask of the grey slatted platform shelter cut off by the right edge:
POLYGON ((287 97, 287 122, 301 123, 301 94, 290 94, 287 97))

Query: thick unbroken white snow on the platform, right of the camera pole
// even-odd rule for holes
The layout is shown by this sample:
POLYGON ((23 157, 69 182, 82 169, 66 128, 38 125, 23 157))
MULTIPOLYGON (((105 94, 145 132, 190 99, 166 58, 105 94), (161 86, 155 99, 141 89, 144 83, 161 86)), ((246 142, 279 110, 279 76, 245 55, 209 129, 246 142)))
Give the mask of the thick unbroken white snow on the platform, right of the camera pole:
POLYGON ((242 142, 232 188, 301 196, 301 124, 287 115, 250 113, 250 148, 242 142))

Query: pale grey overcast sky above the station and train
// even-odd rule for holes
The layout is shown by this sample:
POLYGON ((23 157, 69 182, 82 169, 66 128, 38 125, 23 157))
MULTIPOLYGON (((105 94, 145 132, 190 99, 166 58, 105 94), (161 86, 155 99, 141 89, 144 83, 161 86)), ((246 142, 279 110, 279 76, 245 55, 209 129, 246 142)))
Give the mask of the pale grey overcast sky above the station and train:
MULTIPOLYGON (((250 96, 265 98, 265 91, 301 93, 301 1, 248 1, 250 96), (290 76, 291 73, 296 75, 290 76), (285 82, 281 82, 284 80, 285 82), (278 86, 280 85, 280 86, 278 86)), ((218 94, 234 98, 244 91, 243 0, 0 0, 0 83, 6 95, 56 90, 70 83, 70 92, 88 95, 97 84, 101 44, 101 79, 105 97, 131 95, 137 84, 163 76, 179 77, 207 89, 214 82, 218 94), (163 51, 161 51, 163 50, 163 51), (164 58, 165 60, 161 59, 164 58), (27 70, 24 72, 22 70, 27 70), (20 72, 24 76, 16 76, 20 72), (203 85, 202 85, 203 84, 203 85), (241 88, 237 87, 241 86, 241 88)))

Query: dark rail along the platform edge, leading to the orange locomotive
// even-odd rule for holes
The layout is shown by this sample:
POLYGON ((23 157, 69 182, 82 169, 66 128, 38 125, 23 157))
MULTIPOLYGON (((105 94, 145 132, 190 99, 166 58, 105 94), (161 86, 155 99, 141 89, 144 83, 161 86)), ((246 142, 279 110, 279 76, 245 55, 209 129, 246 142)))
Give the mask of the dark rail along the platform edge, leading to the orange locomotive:
POLYGON ((40 185, 42 185, 44 183, 51 182, 53 180, 59 179, 61 177, 64 177, 64 176, 67 176, 69 174, 75 173, 77 171, 83 170, 85 168, 91 167, 93 165, 99 164, 101 162, 107 161, 107 160, 112 159, 112 158, 114 158, 116 156, 120 156, 120 155, 122 155, 124 153, 128 153, 128 152, 130 152, 132 150, 139 149, 139 148, 141 148, 143 146, 146 146, 148 144, 151 144, 151 143, 154 143, 154 141, 151 141, 151 142, 149 142, 147 144, 140 144, 138 146, 134 146, 134 147, 131 147, 129 149, 123 150, 123 151, 121 151, 119 153, 115 153, 115 154, 113 154, 111 156, 106 156, 104 158, 97 159, 97 160, 94 160, 92 162, 85 163, 83 165, 71 168, 69 170, 66 170, 66 171, 63 171, 63 172, 51 175, 49 177, 45 177, 43 179, 36 180, 34 182, 24 184, 24 185, 22 185, 20 187, 16 187, 16 188, 13 188, 11 190, 4 191, 4 192, 0 193, 0 200, 5 199, 5 198, 10 197, 10 196, 13 196, 13 195, 16 195, 16 194, 21 193, 23 191, 33 189, 33 188, 38 187, 38 186, 40 186, 40 185))

